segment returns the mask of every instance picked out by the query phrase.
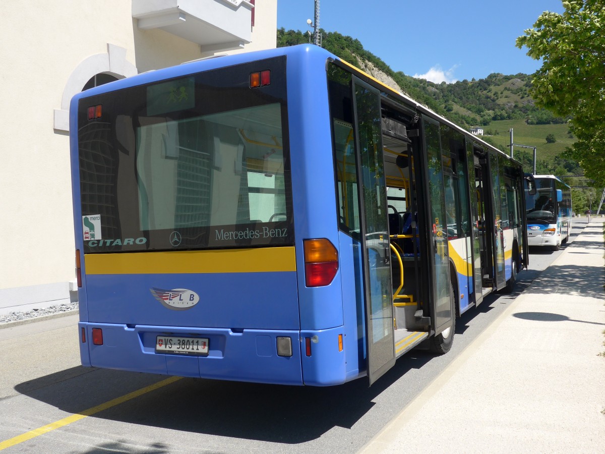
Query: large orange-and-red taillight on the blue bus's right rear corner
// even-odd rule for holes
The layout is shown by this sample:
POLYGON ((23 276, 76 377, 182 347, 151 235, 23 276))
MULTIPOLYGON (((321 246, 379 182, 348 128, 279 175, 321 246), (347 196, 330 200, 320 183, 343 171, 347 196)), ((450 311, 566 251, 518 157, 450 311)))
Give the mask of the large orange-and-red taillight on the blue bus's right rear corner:
POLYGON ((338 251, 329 240, 304 240, 304 271, 307 287, 332 282, 338 271, 338 251))

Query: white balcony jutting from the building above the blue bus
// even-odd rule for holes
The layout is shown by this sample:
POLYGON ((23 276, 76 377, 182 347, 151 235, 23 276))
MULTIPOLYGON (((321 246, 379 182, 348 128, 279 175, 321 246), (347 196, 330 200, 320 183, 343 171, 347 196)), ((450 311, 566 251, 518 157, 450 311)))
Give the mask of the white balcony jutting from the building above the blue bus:
POLYGON ((132 17, 142 30, 161 28, 214 53, 250 42, 252 8, 249 0, 132 0, 132 17))

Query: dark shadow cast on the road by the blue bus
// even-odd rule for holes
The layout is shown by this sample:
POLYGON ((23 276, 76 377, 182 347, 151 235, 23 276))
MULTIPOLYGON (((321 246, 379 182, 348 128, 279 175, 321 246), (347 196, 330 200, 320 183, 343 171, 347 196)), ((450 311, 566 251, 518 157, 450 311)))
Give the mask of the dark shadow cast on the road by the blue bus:
MULTIPOLYGON (((331 387, 183 378, 90 417, 206 435, 299 444, 317 439, 334 427, 351 429, 375 405, 377 396, 433 357, 428 352, 414 352, 397 361, 371 387, 367 378, 331 387)), ((75 414, 165 378, 78 366, 18 384, 15 390, 75 414)))

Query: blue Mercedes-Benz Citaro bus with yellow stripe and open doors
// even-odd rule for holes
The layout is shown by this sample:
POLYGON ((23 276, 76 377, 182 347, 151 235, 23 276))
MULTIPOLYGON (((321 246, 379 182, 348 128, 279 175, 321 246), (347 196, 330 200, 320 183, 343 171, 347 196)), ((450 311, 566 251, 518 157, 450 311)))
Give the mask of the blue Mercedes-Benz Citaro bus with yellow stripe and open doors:
POLYGON ((527 265, 515 160, 314 45, 71 102, 85 366, 373 383, 527 265))

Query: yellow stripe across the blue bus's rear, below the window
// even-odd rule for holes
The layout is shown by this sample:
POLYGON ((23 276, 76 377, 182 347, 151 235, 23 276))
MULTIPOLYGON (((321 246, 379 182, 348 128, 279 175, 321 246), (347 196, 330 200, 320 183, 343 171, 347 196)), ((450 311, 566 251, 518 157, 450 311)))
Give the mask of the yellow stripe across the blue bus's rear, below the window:
POLYGON ((85 254, 86 274, 197 274, 296 271, 294 246, 213 251, 85 254))

